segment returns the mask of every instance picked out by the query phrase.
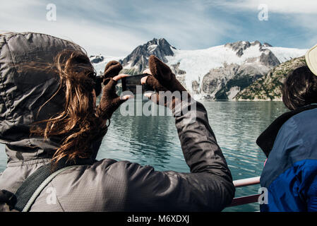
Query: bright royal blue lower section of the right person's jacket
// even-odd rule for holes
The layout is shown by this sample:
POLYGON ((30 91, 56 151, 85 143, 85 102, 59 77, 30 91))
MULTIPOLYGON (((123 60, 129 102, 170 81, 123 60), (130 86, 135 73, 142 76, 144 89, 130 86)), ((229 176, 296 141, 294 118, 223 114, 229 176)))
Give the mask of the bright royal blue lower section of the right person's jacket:
POLYGON ((301 160, 280 174, 268 187, 268 204, 261 211, 317 211, 316 165, 316 160, 301 160))

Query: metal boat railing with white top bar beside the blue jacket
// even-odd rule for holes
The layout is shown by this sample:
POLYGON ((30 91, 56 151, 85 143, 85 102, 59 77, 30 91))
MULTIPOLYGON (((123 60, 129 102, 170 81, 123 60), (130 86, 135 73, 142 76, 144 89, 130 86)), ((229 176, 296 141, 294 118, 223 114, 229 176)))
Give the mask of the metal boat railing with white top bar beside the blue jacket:
MULTIPOLYGON (((251 178, 246 178, 246 179, 238 179, 233 182, 234 186, 237 188, 239 186, 249 186, 253 184, 260 184, 260 177, 251 177, 251 178)), ((258 202, 258 196, 260 194, 253 194, 250 196, 242 196, 242 197, 237 197, 232 200, 232 203, 227 206, 241 206, 244 204, 249 204, 249 203, 256 203, 258 202)))

